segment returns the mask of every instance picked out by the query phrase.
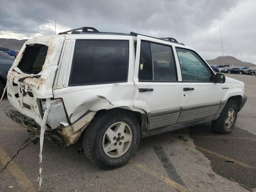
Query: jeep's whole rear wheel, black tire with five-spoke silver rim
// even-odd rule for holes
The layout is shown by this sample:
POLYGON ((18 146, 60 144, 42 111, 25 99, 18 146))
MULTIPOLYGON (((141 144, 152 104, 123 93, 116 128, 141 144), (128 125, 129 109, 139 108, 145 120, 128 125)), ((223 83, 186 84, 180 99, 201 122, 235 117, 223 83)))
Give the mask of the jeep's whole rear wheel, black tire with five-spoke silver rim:
POLYGON ((140 126, 136 117, 114 109, 97 116, 84 132, 83 149, 87 158, 104 169, 126 164, 140 143, 140 126))

